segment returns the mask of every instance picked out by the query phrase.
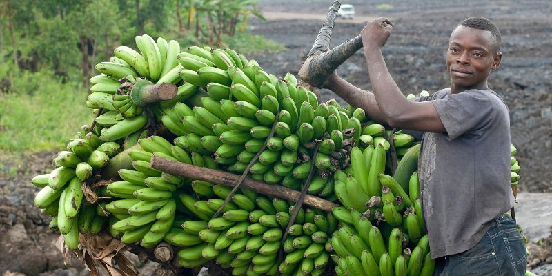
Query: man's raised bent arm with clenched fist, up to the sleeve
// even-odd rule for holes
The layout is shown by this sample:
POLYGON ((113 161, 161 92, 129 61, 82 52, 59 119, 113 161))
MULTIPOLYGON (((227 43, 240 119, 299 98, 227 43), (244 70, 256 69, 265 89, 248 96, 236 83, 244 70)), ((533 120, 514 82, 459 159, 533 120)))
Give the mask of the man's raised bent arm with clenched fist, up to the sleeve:
POLYGON ((408 101, 389 74, 382 47, 393 25, 384 17, 368 22, 362 30, 364 56, 377 106, 390 126, 423 132, 446 132, 431 101, 408 101), (385 24, 384 24, 385 23, 385 24))

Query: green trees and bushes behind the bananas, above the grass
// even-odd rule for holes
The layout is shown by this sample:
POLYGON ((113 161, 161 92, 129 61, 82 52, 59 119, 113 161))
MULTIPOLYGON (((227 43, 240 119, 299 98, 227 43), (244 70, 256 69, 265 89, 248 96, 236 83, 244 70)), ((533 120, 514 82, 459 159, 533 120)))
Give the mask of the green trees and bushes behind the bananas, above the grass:
POLYGON ((221 44, 256 16, 257 0, 0 0, 0 60, 88 87, 94 66, 135 36, 221 44), (186 20, 186 22, 184 22, 186 20), (185 24, 186 23, 186 24, 185 24), (195 23, 195 30, 191 28, 195 23), (186 25, 186 28, 185 26, 186 25))

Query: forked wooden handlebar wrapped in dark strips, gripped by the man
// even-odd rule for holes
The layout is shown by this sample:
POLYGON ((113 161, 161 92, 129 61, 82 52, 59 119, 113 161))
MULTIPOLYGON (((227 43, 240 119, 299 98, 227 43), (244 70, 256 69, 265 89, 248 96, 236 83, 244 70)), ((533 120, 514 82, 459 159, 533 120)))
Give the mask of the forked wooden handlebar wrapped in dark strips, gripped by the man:
POLYGON ((302 63, 301 69, 299 69, 301 81, 297 86, 304 86, 308 90, 312 90, 318 99, 320 99, 319 88, 324 86, 326 79, 328 79, 332 72, 362 48, 362 37, 358 35, 354 39, 346 41, 330 50, 333 25, 340 6, 339 1, 334 1, 332 6, 330 6, 326 20, 318 32, 313 48, 308 52, 306 60, 302 63))

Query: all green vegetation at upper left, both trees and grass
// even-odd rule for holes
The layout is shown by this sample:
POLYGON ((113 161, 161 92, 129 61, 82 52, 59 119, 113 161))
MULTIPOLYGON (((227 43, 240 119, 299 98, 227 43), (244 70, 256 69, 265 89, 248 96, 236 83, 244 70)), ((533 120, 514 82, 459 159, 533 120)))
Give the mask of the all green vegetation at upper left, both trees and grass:
POLYGON ((117 46, 136 49, 137 34, 174 39, 182 50, 206 43, 244 55, 282 50, 246 32, 250 17, 264 19, 256 5, 257 0, 0 0, 0 157, 59 149, 90 124, 85 86, 97 75, 95 64, 108 60, 117 46), (6 83, 8 92, 1 90, 6 83))

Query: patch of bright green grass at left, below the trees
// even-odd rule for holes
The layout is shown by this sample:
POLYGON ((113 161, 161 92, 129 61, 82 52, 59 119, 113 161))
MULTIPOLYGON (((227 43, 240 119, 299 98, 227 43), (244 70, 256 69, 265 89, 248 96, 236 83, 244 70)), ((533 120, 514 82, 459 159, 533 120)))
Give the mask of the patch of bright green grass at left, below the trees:
MULTIPOLYGON (((0 67, 0 79, 7 79, 6 67, 0 67)), ((83 88, 61 83, 49 70, 12 74, 10 92, 0 93, 0 152, 62 148, 81 125, 90 124, 83 88)))

